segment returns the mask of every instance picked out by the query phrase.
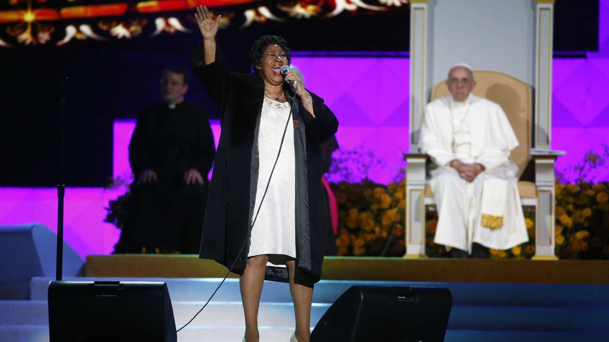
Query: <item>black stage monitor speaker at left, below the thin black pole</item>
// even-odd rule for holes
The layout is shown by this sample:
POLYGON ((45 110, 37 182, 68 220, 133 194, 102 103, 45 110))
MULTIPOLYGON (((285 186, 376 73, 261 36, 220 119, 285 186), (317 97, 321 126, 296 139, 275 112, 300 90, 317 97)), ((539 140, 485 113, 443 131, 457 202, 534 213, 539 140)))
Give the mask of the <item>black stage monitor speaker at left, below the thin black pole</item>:
POLYGON ((164 282, 52 281, 51 342, 176 342, 164 282))

